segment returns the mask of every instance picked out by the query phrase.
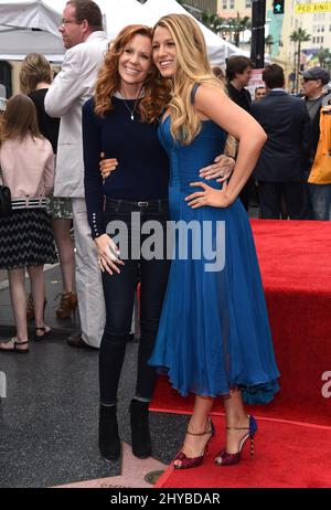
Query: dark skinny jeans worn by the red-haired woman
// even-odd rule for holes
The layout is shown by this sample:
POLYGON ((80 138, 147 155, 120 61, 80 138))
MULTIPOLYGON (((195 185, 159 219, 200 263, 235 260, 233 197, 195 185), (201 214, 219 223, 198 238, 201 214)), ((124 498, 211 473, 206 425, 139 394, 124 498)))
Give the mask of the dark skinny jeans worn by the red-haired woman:
MULTIPOLYGON (((154 384, 156 370, 148 364, 152 354, 160 315, 162 311, 163 298, 167 288, 170 261, 167 261, 166 237, 167 220, 169 219, 169 206, 166 200, 149 202, 128 202, 122 200, 106 200, 105 208, 106 224, 113 221, 121 221, 127 225, 129 240, 125 247, 128 248, 128 259, 124 258, 125 266, 120 266, 120 274, 110 276, 103 274, 103 285, 106 300, 106 327, 99 351, 99 383, 100 403, 114 405, 117 402, 117 390, 120 372, 126 353, 126 344, 131 328, 135 290, 137 288, 137 276, 140 269, 141 296, 140 296, 140 344, 138 351, 138 376, 136 397, 150 401, 154 384), (162 225, 164 252, 162 259, 145 259, 141 255, 134 257, 131 251, 131 236, 140 252, 141 244, 148 237, 141 235, 132 226, 131 213, 143 225, 147 221, 158 221, 162 225)), ((151 232, 152 233, 152 232, 151 232)), ((113 235, 114 238, 114 235, 113 235)), ((122 248, 124 244, 119 246, 122 248)), ((121 249, 122 254, 125 249, 121 249)), ((122 255, 124 256, 124 255, 122 255)))

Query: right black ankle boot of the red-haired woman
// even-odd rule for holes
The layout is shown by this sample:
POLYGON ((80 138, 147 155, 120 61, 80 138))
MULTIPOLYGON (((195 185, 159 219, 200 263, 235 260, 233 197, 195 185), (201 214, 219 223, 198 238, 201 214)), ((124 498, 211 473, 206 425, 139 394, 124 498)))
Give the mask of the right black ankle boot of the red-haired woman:
POLYGON ((138 458, 147 458, 151 455, 148 406, 149 402, 132 400, 130 403, 132 454, 138 458))

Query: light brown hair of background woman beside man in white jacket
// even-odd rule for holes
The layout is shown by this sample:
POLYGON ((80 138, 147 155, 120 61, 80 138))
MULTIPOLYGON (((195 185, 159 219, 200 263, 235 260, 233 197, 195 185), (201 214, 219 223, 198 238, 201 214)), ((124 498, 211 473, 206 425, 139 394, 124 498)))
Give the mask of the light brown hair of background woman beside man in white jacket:
POLYGON ((29 53, 22 62, 20 86, 23 94, 31 94, 39 83, 52 83, 51 64, 40 53, 29 53))

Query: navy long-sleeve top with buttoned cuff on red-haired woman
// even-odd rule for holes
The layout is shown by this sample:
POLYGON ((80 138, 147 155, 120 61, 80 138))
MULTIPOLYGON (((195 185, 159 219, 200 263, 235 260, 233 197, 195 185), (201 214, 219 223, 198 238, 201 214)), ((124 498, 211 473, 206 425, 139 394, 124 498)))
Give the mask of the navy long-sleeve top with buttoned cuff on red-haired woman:
POLYGON ((93 238, 106 232, 105 198, 149 201, 168 198, 169 160, 158 139, 158 125, 141 123, 135 100, 113 97, 114 109, 104 118, 89 99, 83 107, 85 200, 93 238), (99 161, 116 158, 118 167, 103 180, 99 161))

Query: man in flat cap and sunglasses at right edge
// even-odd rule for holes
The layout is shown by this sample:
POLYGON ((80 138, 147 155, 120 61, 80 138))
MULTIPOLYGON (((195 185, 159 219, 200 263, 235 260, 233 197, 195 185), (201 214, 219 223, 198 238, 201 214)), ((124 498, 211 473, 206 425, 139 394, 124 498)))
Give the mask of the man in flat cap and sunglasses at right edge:
MULTIPOLYGON (((312 67, 303 71, 301 75, 302 91, 311 120, 311 151, 306 169, 306 176, 309 178, 320 139, 320 111, 323 98, 327 95, 324 87, 330 82, 330 74, 322 67, 312 67)), ((312 206, 312 211, 309 211, 308 215, 314 220, 328 220, 331 183, 309 183, 308 187, 312 206)))

